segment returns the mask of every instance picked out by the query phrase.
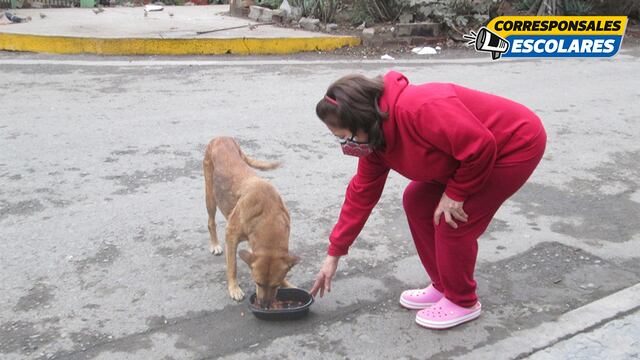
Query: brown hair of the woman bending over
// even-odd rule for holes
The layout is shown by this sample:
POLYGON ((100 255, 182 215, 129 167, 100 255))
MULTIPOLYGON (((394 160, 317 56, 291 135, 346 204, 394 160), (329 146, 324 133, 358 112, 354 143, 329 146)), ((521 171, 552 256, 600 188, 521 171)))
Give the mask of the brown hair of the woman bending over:
POLYGON ((388 115, 378 107, 383 91, 381 76, 369 79, 347 75, 329 86, 326 96, 316 105, 316 115, 331 127, 348 129, 353 134, 364 131, 374 150, 384 150, 382 122, 388 115))

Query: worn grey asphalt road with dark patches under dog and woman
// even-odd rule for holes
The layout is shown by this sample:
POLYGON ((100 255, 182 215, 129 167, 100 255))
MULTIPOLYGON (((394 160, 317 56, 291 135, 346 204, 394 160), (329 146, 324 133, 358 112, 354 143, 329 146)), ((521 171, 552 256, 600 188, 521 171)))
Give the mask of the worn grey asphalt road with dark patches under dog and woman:
POLYGON ((0 357, 445 359, 636 284, 638 54, 261 65, 0 53, 0 357), (547 129, 541 165, 480 239, 483 315, 429 331, 397 305, 428 279, 402 210, 407 180, 392 174, 331 294, 305 320, 255 319, 207 251, 204 146, 231 135, 284 163, 261 174, 290 209, 302 258, 291 278, 309 288, 356 164, 315 102, 342 75, 389 69, 522 102, 547 129))

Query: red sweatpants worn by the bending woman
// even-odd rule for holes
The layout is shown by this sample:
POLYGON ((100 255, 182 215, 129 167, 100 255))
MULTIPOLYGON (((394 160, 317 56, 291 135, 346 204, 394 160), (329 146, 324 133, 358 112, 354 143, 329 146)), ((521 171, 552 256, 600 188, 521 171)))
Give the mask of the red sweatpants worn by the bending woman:
POLYGON ((478 300, 473 279, 478 237, 502 203, 533 173, 545 145, 546 134, 542 132, 522 153, 498 159, 486 185, 464 202, 469 220, 464 223, 454 219, 457 229, 445 222, 444 215, 437 226, 433 223, 444 185, 412 181, 404 191, 403 205, 422 265, 433 286, 455 304, 473 306, 478 300), (522 159, 524 154, 526 159, 522 159))

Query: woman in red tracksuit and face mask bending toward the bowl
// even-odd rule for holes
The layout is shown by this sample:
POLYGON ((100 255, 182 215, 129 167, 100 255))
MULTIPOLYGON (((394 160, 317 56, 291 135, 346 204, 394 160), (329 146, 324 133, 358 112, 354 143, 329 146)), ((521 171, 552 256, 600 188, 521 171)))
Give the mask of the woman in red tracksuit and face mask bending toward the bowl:
POLYGON ((449 83, 409 84, 398 72, 333 83, 316 106, 346 155, 359 157, 328 256, 311 293, 331 291, 338 260, 362 230, 389 170, 411 179, 409 229, 431 278, 404 291, 416 322, 446 329, 480 315, 473 272, 478 237, 536 168, 546 145, 540 119, 511 100, 449 83))

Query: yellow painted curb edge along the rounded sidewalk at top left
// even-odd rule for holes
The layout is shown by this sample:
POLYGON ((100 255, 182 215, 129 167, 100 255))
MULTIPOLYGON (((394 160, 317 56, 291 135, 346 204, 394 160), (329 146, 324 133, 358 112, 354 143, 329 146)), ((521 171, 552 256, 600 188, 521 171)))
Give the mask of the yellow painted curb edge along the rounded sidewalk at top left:
POLYGON ((218 55, 292 54, 360 45, 354 36, 310 38, 141 39, 82 38, 0 33, 0 50, 51 54, 218 55))

